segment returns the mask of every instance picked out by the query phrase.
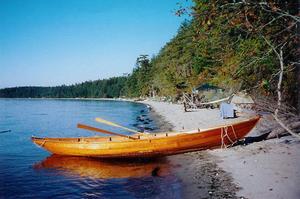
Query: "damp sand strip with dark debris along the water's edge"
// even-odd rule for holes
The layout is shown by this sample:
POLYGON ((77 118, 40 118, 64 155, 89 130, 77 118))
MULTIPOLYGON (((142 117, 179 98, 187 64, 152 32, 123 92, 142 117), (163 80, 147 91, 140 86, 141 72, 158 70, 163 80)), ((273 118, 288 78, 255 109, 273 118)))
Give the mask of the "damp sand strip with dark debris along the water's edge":
MULTIPOLYGON (((151 107, 149 116, 155 121, 159 131, 172 131, 175 126, 158 110, 151 107)), ((207 151, 197 151, 167 157, 173 165, 173 172, 182 184, 182 198, 238 198, 240 189, 232 177, 217 165, 217 159, 207 151)))

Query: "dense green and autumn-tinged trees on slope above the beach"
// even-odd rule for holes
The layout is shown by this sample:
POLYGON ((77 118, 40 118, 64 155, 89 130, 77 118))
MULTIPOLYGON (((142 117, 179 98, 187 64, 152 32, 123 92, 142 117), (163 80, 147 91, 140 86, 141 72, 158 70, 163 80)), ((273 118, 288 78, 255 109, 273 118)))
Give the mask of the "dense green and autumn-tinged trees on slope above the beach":
MULTIPOLYGON (((158 95, 176 95, 182 91, 178 89, 181 83, 191 90, 206 82, 225 89, 258 86, 268 92, 275 91, 273 80, 278 59, 265 38, 276 46, 291 35, 282 25, 291 20, 278 17, 276 11, 297 14, 293 4, 268 1, 270 8, 264 8, 255 2, 194 0, 194 3, 193 18, 185 21, 177 35, 151 59, 151 70, 143 75, 140 70, 133 71, 132 78, 137 78, 138 87, 134 96, 145 96, 151 90, 158 95), (278 20, 274 20, 276 17, 278 20), (141 76, 147 79, 138 81, 141 76)), ((286 53, 290 60, 297 57, 295 53, 290 56, 288 49, 286 53)))

